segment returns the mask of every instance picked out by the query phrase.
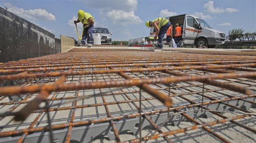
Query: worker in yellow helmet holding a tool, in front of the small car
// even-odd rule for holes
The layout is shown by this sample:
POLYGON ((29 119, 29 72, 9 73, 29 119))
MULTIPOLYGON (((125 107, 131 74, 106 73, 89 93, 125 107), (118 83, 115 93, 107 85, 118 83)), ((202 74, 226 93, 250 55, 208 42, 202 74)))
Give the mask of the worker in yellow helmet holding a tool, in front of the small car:
POLYGON ((90 13, 86 13, 85 11, 78 11, 78 19, 74 21, 74 23, 81 22, 83 24, 83 33, 81 43, 85 45, 86 39, 88 36, 88 46, 92 46, 93 44, 93 35, 92 29, 94 24, 94 17, 91 16, 90 13))

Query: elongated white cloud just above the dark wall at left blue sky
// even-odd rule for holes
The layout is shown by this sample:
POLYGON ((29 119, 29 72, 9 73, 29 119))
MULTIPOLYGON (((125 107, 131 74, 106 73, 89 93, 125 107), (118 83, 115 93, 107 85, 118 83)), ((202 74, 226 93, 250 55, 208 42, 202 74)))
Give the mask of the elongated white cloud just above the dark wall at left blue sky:
POLYGON ((4 5, 8 8, 8 11, 18 15, 24 19, 35 20, 35 19, 43 19, 46 21, 56 21, 56 18, 52 13, 48 13, 45 9, 33 9, 33 10, 24 10, 23 8, 17 8, 10 4, 9 2, 5 2, 4 5))

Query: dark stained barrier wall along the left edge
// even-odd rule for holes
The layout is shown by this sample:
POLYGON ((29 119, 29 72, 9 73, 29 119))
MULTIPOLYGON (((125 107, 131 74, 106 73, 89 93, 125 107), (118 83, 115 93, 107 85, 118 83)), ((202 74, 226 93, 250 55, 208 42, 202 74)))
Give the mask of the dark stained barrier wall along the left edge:
POLYGON ((54 34, 0 7, 0 63, 60 53, 55 41, 54 34))

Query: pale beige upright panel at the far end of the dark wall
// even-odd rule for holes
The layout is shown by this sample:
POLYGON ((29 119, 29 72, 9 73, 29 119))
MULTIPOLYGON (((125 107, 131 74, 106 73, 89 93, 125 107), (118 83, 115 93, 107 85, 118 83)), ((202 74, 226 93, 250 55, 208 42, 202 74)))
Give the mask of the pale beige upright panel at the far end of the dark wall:
POLYGON ((74 38, 61 35, 61 53, 65 53, 74 48, 74 44, 74 38))

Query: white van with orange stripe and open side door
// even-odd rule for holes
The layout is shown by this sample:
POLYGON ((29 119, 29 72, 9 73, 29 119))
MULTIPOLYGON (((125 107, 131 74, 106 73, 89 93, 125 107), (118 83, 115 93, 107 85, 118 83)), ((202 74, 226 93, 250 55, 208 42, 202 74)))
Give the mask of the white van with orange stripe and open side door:
MULTIPOLYGON (((165 18, 169 19, 173 25, 173 37, 175 34, 175 25, 177 23, 180 25, 182 30, 181 41, 185 45, 195 45, 196 47, 208 46, 208 48, 215 48, 217 45, 224 44, 224 41, 226 40, 226 36, 223 32, 214 29, 200 17, 184 14, 165 18)), ((150 36, 154 37, 155 35, 156 30, 151 27, 150 36)), ((166 40, 166 34, 164 36, 163 43, 164 40, 166 40)))

